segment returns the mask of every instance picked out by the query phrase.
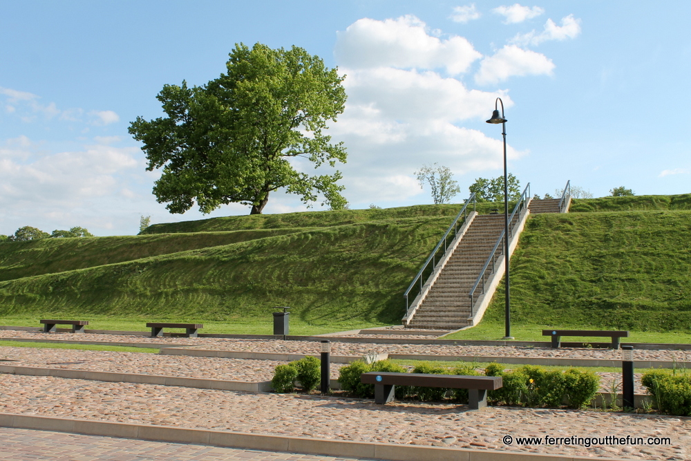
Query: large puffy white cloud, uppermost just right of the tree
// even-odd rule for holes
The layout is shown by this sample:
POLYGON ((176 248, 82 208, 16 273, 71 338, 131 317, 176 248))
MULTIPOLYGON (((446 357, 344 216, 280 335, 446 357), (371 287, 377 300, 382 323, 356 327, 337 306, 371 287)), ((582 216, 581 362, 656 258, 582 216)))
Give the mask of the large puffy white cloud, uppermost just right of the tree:
POLYGON ((398 19, 359 19, 337 32, 334 50, 337 62, 346 68, 445 68, 451 75, 466 72, 480 59, 464 37, 446 40, 428 34, 415 16, 398 19))

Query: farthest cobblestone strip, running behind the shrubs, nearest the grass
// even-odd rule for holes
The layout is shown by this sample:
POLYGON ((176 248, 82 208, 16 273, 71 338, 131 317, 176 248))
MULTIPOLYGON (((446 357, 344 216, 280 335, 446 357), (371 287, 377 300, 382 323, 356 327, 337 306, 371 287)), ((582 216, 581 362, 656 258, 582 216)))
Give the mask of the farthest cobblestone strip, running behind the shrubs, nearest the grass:
MULTIPOLYGON (((389 337, 384 335, 382 337, 389 337)), ((91 333, 53 333, 26 332, 17 330, 0 330, 3 338, 55 339, 70 341, 109 341, 113 343, 151 343, 152 346, 164 344, 185 344, 198 349, 209 350, 251 350, 252 352, 282 352, 292 354, 318 354, 319 343, 316 341, 281 341, 265 339, 231 339, 231 338, 151 338, 126 335, 96 335, 91 333)), ((378 344, 378 343, 345 343, 332 339, 331 351, 334 355, 364 355, 368 352, 386 352, 389 354, 431 354, 455 356, 490 356, 490 357, 546 357, 573 359, 609 359, 620 360, 621 351, 612 349, 558 348, 550 347, 517 347, 517 346, 454 346, 446 344, 378 344)), ((636 360, 676 360, 691 361, 691 350, 635 350, 636 360)))

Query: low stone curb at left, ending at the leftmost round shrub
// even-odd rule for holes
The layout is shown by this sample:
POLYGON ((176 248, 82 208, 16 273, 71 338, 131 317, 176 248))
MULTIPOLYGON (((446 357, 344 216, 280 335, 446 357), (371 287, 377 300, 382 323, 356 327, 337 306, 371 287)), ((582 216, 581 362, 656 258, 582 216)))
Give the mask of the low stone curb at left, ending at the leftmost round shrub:
POLYGON ((163 375, 142 375, 139 373, 113 373, 110 371, 70 370, 68 368, 37 368, 32 366, 0 365, 0 373, 8 375, 53 376, 68 379, 88 379, 90 381, 155 384, 158 386, 180 386, 218 391, 270 392, 271 382, 225 381, 163 375))

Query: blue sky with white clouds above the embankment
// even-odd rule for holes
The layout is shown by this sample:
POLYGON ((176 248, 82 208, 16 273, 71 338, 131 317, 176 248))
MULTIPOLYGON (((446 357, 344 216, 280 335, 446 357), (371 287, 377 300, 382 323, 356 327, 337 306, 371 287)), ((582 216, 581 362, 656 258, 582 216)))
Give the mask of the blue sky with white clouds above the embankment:
MULTIPOLYGON (((351 209, 432 203, 415 171, 508 169, 531 195, 567 180, 595 197, 691 193, 689 1, 0 0, 0 234, 86 227, 133 235, 170 214, 151 190, 136 117, 162 116, 164 84, 201 86, 235 44, 299 46, 345 74, 328 134, 348 162, 351 209)), ((299 165, 305 168, 305 165, 299 165)), ((305 169, 305 171, 307 171, 305 169)), ((321 202, 310 209, 324 209, 321 202)), ((276 191, 266 214, 305 211, 276 191)))

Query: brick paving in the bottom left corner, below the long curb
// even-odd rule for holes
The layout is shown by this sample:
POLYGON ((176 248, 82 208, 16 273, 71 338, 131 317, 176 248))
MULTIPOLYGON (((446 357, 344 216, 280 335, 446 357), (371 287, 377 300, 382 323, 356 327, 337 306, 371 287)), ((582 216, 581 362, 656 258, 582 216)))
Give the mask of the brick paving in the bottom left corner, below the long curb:
POLYGON ((96 435, 0 427, 1 459, 6 461, 350 461, 365 458, 243 450, 218 446, 149 442, 96 435))

